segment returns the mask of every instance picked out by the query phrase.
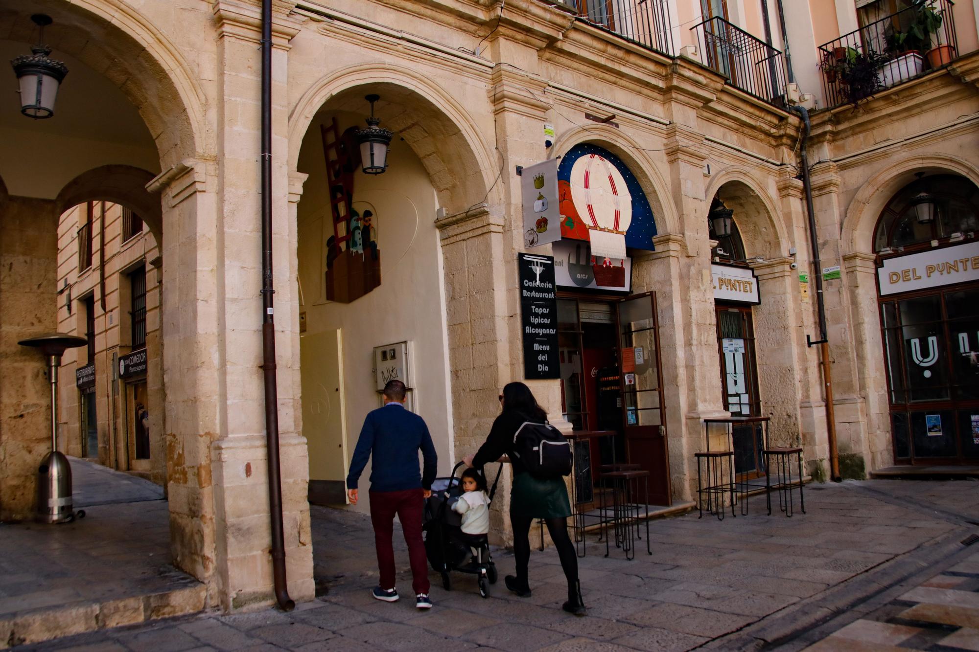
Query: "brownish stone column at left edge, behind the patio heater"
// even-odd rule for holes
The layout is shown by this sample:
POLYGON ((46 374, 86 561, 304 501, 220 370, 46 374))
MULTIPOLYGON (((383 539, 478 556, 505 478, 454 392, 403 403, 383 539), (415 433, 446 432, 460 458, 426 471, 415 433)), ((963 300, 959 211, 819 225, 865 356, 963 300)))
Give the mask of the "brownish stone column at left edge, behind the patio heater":
POLYGON ((44 357, 17 343, 57 330, 58 212, 0 192, 0 521, 19 521, 33 518, 51 450, 51 386, 44 357))

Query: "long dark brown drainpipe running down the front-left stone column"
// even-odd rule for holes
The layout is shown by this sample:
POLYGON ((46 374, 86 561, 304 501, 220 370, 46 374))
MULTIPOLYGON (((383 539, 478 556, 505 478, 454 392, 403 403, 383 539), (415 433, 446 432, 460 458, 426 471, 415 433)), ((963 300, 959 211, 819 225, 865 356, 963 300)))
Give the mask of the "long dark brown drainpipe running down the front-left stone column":
POLYGON ((272 0, 261 0, 261 370, 265 381, 265 446, 268 507, 272 520, 272 579, 283 611, 296 603, 286 584, 282 532, 282 477, 279 472, 279 396, 275 374, 275 318, 272 314, 272 0))

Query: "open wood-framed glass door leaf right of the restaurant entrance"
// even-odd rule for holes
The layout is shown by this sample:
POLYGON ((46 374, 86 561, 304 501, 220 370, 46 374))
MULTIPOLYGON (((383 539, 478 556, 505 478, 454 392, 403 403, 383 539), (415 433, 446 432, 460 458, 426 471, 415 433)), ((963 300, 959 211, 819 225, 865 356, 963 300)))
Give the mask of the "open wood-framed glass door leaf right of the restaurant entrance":
POLYGON ((656 294, 649 292, 623 299, 618 308, 627 456, 629 462, 649 471, 650 502, 670 505, 670 457, 656 294))

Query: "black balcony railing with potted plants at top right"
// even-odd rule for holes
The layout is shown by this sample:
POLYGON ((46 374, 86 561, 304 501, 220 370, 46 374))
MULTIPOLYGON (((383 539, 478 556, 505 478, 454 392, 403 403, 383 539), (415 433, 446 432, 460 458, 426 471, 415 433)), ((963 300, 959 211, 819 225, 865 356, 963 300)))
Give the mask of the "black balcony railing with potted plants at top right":
POLYGON ((819 46, 826 108, 856 104, 958 56, 952 0, 924 0, 819 46))

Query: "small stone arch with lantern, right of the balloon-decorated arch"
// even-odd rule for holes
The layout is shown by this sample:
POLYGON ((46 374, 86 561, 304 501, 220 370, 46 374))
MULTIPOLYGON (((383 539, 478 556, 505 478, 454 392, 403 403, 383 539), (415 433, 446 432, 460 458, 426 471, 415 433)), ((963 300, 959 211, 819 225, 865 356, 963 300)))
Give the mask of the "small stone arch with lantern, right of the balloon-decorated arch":
POLYGON ((734 222, 741 232, 747 256, 769 259, 785 255, 782 245, 788 238, 779 212, 769 193, 747 167, 728 167, 711 179, 706 193, 706 210, 710 210, 715 196, 728 209, 734 210, 734 222))

